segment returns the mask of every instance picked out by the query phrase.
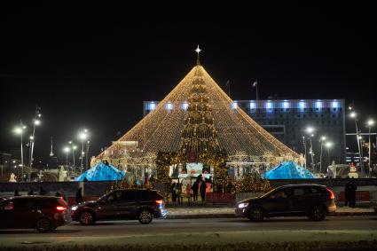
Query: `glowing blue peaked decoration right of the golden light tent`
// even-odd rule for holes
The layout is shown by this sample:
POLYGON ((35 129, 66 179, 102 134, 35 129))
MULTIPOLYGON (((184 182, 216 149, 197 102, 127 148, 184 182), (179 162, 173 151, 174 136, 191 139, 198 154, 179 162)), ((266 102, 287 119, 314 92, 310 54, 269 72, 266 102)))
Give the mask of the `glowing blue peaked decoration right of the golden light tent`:
POLYGON ((300 167, 294 161, 284 161, 279 166, 262 174, 262 178, 267 179, 300 179, 315 178, 308 170, 300 167))

